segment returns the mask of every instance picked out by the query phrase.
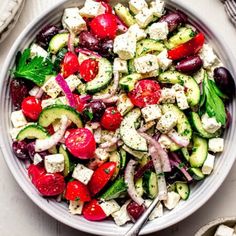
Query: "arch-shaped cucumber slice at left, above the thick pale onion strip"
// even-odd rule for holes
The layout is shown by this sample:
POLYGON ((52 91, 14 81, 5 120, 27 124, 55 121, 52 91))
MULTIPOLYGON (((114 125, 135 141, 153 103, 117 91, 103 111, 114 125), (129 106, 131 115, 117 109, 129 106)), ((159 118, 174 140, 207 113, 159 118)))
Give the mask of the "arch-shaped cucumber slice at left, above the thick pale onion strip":
POLYGON ((66 115, 78 128, 83 127, 80 114, 74 108, 62 104, 45 107, 40 113, 38 123, 43 127, 48 127, 56 119, 60 119, 62 115, 66 115))

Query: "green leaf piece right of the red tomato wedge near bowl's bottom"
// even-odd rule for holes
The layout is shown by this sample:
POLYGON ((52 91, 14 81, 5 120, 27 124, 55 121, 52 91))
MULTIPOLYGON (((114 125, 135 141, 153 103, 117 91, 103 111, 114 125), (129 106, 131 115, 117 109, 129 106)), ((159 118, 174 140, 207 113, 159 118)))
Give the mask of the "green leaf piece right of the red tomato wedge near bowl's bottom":
POLYGON ((100 199, 105 201, 119 198, 123 193, 127 190, 127 185, 123 178, 117 179, 115 182, 111 184, 111 186, 107 189, 105 193, 103 193, 100 199))

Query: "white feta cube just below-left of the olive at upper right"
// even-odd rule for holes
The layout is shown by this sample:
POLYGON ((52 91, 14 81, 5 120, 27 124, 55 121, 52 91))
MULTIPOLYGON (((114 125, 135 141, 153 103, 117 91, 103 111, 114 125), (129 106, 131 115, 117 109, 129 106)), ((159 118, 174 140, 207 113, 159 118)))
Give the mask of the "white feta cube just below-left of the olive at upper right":
POLYGON ((151 26, 148 27, 147 32, 150 35, 151 39, 167 39, 167 35, 169 34, 168 24, 167 22, 153 23, 151 26))

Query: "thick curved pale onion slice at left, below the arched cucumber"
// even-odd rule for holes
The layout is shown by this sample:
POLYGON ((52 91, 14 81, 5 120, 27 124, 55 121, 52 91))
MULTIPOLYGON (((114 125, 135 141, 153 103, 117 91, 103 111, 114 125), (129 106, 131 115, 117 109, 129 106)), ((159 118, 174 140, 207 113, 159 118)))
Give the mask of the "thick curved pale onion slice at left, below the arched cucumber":
POLYGON ((53 146, 57 145, 60 140, 64 137, 68 126, 68 118, 67 116, 63 115, 61 117, 61 126, 57 132, 55 132, 52 136, 46 139, 37 139, 35 142, 35 152, 42 152, 46 151, 53 146))

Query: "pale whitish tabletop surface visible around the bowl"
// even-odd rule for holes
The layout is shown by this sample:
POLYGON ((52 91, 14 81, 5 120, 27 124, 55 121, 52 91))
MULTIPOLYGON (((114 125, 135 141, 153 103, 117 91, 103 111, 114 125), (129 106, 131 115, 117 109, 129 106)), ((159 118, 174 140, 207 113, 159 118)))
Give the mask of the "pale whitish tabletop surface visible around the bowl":
MULTIPOLYGON (((2 0, 4 1, 4 0, 2 0)), ((22 15, 8 38, 0 44, 0 70, 20 32, 44 9, 58 0, 26 0, 22 15)), ((236 29, 230 24, 218 0, 176 0, 194 9, 199 17, 217 28, 236 58, 236 29)), ((236 63, 236 61, 235 61, 236 63)), ((235 154, 234 154, 235 155, 235 154)), ((204 197, 204 196, 202 196, 204 197)), ((164 231, 152 235, 192 236, 218 216, 236 216, 236 164, 216 194, 196 213, 164 231)), ((40 210, 20 189, 0 156, 0 236, 88 235, 63 225, 40 210)))

